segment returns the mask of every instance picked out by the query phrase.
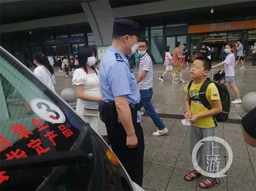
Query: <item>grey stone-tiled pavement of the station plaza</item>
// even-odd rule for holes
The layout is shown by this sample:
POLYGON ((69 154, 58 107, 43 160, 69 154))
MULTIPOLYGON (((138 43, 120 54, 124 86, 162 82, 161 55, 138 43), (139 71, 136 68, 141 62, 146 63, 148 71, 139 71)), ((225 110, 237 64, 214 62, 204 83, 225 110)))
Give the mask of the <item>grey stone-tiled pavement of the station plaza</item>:
MULTIPOLYGON (((251 66, 251 62, 246 62, 245 68, 245 70, 236 68, 235 81, 241 98, 248 92, 256 91, 256 67, 251 66)), ((171 85, 170 76, 164 77, 165 81, 160 82, 158 77, 164 69, 163 65, 154 65, 153 105, 158 113, 182 114, 185 84, 171 85)), ((218 69, 214 71, 216 73, 218 69)), ((189 70, 183 69, 183 72, 184 79, 190 80, 189 70)), ((134 69, 134 74, 138 75, 138 68, 134 69)), ((60 94, 61 90, 66 87, 71 87, 71 78, 65 79, 64 74, 56 72, 56 92, 60 94)), ((233 100, 234 94, 232 91, 229 92, 230 99, 233 100)), ((231 104, 230 109, 230 119, 241 119, 239 115, 243 110, 241 104, 231 104)), ((192 164, 188 152, 189 127, 183 126, 180 119, 162 118, 162 120, 169 134, 154 137, 152 136, 152 132, 156 131, 154 123, 149 117, 142 117, 141 124, 145 140, 143 188, 156 191, 202 190, 198 186, 202 177, 191 182, 184 180, 184 175, 189 172, 192 164)), ((220 178, 221 184, 211 190, 256 190, 256 148, 244 142, 241 125, 219 123, 218 136, 230 145, 233 162, 227 171, 227 176, 220 178)), ((221 166, 224 167, 228 161, 227 151, 223 146, 220 146, 219 150, 221 166)))

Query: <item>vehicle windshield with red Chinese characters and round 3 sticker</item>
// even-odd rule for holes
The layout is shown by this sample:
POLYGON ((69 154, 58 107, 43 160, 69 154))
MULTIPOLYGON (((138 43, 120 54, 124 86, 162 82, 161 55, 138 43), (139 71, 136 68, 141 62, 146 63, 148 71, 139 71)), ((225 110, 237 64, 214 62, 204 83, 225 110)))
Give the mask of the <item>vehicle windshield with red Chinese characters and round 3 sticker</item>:
POLYGON ((1 190, 132 189, 89 124, 2 49, 0 63, 1 190))

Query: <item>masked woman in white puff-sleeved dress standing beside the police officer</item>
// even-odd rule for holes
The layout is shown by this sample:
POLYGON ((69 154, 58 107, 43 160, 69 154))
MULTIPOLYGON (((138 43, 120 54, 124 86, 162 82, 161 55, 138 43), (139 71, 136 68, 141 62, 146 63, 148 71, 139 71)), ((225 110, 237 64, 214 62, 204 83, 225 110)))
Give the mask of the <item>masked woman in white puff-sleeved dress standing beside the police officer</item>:
MULTIPOLYGON (((83 114, 83 105, 86 101, 95 103, 102 101, 99 86, 99 71, 94 67, 96 58, 93 47, 80 47, 78 62, 79 68, 73 73, 72 85, 75 87, 77 96, 76 112, 83 114)), ((100 120, 100 117, 83 115, 83 118, 108 143, 106 127, 100 120)))

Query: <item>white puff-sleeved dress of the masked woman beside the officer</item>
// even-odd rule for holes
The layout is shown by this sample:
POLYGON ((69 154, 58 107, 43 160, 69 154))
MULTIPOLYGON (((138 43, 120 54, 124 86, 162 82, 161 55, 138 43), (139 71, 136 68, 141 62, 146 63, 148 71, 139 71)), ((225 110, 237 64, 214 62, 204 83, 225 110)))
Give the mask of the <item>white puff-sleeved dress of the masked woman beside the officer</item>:
MULTIPOLYGON (((99 74, 98 70, 96 69, 99 74)), ((76 69, 73 73, 72 85, 84 86, 84 93, 94 97, 100 97, 100 85, 99 85, 99 76, 96 73, 87 74, 83 68, 76 69)), ((77 98, 76 109, 75 111, 79 114, 83 114, 83 104, 84 100, 77 98)), ((90 124, 91 128, 94 129, 99 135, 104 136, 108 135, 106 132, 105 124, 100 120, 99 116, 87 116, 82 115, 83 119, 90 124)))

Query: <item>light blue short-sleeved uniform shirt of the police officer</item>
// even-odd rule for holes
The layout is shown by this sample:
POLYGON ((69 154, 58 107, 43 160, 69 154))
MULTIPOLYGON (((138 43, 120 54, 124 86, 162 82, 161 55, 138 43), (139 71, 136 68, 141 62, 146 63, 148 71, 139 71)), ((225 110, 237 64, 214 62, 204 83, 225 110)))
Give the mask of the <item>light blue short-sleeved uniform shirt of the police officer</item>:
MULTIPOLYGON (((100 60, 99 80, 103 101, 114 101, 115 97, 127 95, 128 104, 140 103, 140 91, 128 59, 112 46, 100 60)), ((118 121, 120 122, 119 119, 118 121)), ((140 111, 137 122, 141 122, 140 111)))

